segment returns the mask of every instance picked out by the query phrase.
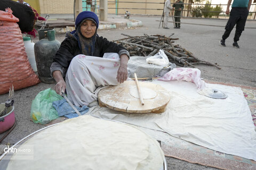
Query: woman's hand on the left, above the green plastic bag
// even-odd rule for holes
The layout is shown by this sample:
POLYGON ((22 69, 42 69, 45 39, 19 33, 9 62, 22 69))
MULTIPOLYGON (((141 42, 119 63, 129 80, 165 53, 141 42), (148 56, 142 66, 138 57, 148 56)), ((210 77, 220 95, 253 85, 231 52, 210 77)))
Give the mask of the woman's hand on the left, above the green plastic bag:
POLYGON ((57 92, 57 94, 61 95, 62 92, 65 92, 66 90, 66 82, 64 81, 62 74, 59 70, 54 71, 52 73, 53 78, 57 82, 54 86, 54 90, 57 92))

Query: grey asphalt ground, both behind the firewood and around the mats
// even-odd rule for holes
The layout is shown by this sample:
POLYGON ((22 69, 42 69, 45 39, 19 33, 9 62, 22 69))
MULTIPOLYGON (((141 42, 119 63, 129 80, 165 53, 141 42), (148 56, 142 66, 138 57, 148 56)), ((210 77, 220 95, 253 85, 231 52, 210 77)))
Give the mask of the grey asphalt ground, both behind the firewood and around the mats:
MULTIPOLYGON (((109 16, 111 20, 122 20, 121 16, 109 16)), ((256 21, 248 21, 245 31, 242 33, 241 40, 238 41, 240 49, 233 48, 232 40, 234 31, 226 41, 227 47, 221 47, 219 40, 224 31, 226 20, 207 20, 207 19, 181 19, 181 22, 192 24, 181 24, 181 29, 158 29, 160 17, 142 17, 132 16, 132 19, 142 21, 142 27, 136 28, 118 28, 111 30, 99 30, 100 36, 109 40, 124 38, 121 33, 131 36, 141 36, 144 33, 148 35, 162 34, 165 36, 174 33, 173 38, 179 38, 177 44, 194 53, 195 56, 212 63, 218 63, 222 69, 218 70, 213 66, 198 65, 201 70, 201 78, 230 84, 238 84, 243 86, 256 87, 256 50, 255 50, 255 28, 256 21), (201 25, 196 25, 196 24, 201 25), (219 27, 207 26, 217 25, 219 27)), ((55 20, 56 21, 56 20, 55 20)), ((50 21, 49 21, 50 22, 50 21)), ((57 21, 56 21, 57 22, 57 21)), ((170 28, 172 23, 169 23, 170 28)), ((56 39, 62 41, 63 34, 56 35, 56 39)), ((38 38, 33 40, 34 43, 38 38)), ((3 151, 6 143, 16 143, 28 134, 43 128, 43 125, 34 124, 29 121, 30 106, 32 100, 38 92, 53 87, 54 84, 39 83, 36 86, 17 90, 14 94, 15 100, 15 116, 18 120, 17 126, 11 134, 7 136, 0 145, 0 153, 3 151), (2 149, 1 149, 2 147, 2 149)), ((4 102, 7 94, 0 95, 0 101, 4 102)), ((0 134, 0 138, 3 134, 0 134)), ((179 159, 167 158, 168 169, 215 169, 197 164, 190 164, 179 159)))

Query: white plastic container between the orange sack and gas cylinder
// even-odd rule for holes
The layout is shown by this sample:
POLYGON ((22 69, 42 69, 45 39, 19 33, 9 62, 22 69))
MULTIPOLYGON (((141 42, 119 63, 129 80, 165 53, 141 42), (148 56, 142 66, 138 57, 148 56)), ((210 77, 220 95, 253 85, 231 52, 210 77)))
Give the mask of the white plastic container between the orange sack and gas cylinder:
POLYGON ((34 52, 34 45, 33 41, 30 39, 30 37, 23 37, 24 45, 25 45, 25 51, 28 56, 28 61, 34 70, 34 72, 37 72, 36 68, 36 60, 35 60, 35 52, 34 52))

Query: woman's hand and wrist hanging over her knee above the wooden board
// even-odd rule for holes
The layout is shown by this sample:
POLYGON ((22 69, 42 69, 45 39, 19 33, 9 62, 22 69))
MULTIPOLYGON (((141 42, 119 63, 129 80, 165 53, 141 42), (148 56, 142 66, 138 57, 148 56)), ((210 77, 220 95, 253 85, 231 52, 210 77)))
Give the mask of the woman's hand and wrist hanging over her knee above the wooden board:
POLYGON ((120 66, 117 71, 117 81, 123 83, 128 78, 127 63, 129 57, 126 54, 120 56, 120 66))

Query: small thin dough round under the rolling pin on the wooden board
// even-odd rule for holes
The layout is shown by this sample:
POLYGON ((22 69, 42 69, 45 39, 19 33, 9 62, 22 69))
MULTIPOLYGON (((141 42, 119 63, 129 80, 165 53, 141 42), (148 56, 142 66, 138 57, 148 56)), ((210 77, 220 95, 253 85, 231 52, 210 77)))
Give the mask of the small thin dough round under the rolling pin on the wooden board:
MULTIPOLYGON (((143 99, 154 99, 157 96, 157 92, 155 90, 146 88, 146 87, 141 87, 140 92, 142 94, 143 99)), ((130 89, 130 95, 135 98, 140 98, 139 97, 139 92, 137 87, 132 87, 130 89)))

